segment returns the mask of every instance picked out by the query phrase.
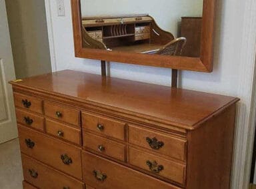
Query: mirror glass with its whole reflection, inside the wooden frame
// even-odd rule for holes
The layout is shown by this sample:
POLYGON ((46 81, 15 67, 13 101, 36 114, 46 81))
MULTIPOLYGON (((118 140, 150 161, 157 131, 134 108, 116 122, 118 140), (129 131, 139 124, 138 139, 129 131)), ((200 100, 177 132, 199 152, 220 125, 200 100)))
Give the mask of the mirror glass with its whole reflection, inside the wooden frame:
POLYGON ((203 0, 81 0, 83 47, 200 57, 202 11, 203 0))

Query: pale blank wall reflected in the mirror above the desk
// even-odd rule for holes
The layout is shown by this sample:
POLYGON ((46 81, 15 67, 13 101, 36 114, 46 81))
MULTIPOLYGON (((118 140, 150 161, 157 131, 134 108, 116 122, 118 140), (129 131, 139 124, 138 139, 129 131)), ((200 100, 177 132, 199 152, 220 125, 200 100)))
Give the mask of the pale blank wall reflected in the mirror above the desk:
POLYGON ((149 14, 157 24, 177 36, 181 17, 201 16, 203 0, 82 0, 83 17, 101 15, 149 14), (89 6, 88 6, 89 5, 89 6))

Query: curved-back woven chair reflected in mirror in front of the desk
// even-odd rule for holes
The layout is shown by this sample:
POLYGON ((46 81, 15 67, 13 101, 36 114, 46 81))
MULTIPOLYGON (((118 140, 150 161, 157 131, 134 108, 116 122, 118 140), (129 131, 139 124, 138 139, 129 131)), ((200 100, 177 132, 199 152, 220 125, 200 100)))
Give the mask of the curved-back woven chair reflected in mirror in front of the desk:
POLYGON ((170 43, 167 43, 163 48, 159 49, 155 54, 157 55, 169 55, 169 56, 181 56, 182 50, 185 47, 187 39, 185 37, 179 37, 173 39, 170 43))

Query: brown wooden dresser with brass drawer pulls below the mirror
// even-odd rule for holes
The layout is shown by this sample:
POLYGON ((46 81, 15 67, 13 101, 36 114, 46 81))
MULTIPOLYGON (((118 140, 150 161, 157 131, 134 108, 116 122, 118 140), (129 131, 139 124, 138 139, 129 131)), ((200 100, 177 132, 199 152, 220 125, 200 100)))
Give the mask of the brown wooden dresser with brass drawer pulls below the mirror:
POLYGON ((24 188, 229 188, 238 98, 77 71, 10 83, 24 188))

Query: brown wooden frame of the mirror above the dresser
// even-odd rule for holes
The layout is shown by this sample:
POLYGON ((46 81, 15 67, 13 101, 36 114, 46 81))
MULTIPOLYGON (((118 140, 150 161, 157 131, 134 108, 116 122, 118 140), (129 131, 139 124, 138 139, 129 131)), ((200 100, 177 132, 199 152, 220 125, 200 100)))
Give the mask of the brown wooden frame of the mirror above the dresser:
POLYGON ((121 51, 105 51, 83 48, 81 1, 71 0, 75 57, 97 59, 117 63, 129 63, 151 67, 163 67, 177 70, 212 72, 213 71, 213 33, 216 0, 203 0, 203 25, 201 34, 201 56, 171 57, 163 55, 143 55, 121 51))

